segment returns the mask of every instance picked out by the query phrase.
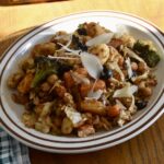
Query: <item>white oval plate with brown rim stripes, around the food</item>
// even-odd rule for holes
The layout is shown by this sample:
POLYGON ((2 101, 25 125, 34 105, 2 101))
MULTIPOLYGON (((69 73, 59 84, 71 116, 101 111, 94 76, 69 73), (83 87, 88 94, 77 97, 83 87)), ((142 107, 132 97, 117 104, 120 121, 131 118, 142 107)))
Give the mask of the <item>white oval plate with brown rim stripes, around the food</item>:
POLYGON ((81 153, 109 148, 127 141, 151 126, 164 112, 164 36, 154 25, 126 13, 112 11, 84 12, 71 14, 48 22, 16 40, 5 52, 0 65, 0 118, 2 127, 15 139, 28 147, 57 153, 81 153), (25 128, 21 122, 23 106, 14 104, 11 91, 7 87, 8 77, 17 69, 17 63, 38 43, 50 38, 57 31, 73 32, 80 23, 99 22, 101 25, 116 31, 124 25, 136 38, 150 39, 154 43, 161 61, 155 71, 159 84, 144 110, 138 112, 133 120, 121 128, 99 132, 87 138, 68 138, 44 134, 25 128))

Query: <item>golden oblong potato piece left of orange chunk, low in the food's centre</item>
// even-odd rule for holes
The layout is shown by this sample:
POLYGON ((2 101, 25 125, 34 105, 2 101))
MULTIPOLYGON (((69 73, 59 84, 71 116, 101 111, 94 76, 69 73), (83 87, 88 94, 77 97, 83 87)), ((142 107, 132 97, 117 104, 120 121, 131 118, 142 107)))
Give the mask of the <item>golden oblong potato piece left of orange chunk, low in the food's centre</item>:
POLYGON ((85 99, 81 102, 81 109, 83 112, 89 112, 92 114, 97 114, 97 115, 105 115, 105 106, 102 102, 98 102, 96 99, 85 99))

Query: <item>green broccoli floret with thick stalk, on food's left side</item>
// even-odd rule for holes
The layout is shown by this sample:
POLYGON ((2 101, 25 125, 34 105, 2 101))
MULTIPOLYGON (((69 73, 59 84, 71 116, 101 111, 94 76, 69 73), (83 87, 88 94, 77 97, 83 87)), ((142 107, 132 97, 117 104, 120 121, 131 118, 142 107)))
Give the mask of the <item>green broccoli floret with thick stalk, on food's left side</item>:
POLYGON ((36 87, 39 82, 47 78, 47 75, 57 73, 58 70, 57 63, 47 57, 36 57, 35 66, 36 72, 31 85, 32 87, 36 87))

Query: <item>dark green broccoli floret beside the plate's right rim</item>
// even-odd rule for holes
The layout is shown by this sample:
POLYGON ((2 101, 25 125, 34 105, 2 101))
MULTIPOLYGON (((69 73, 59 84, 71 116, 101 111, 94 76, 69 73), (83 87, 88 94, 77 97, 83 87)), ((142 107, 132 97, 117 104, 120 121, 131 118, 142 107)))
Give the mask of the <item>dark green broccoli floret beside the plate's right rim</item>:
POLYGON ((151 68, 155 67, 160 61, 160 56, 156 54, 156 51, 140 40, 134 44, 133 50, 137 51, 151 68))

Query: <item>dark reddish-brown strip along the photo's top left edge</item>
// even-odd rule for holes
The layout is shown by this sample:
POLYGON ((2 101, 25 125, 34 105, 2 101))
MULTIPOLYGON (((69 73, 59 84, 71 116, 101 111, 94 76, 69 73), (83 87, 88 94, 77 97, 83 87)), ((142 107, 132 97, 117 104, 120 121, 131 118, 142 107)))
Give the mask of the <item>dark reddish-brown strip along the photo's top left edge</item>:
POLYGON ((36 3, 50 3, 50 2, 60 2, 69 0, 0 0, 0 5, 22 5, 22 4, 36 4, 36 3))

